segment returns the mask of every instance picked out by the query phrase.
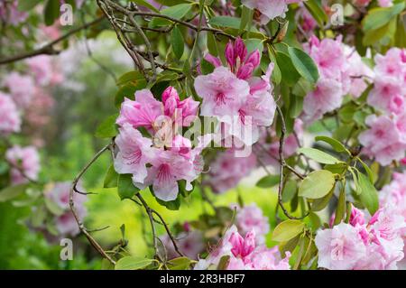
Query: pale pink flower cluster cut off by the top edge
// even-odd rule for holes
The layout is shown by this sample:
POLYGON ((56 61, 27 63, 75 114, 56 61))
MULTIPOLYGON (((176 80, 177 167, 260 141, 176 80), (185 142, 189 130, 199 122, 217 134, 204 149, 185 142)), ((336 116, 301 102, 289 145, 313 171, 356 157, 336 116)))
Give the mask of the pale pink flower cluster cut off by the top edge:
POLYGON ((288 5, 300 3, 303 0, 242 0, 241 3, 261 13, 260 21, 268 23, 276 17, 284 17, 288 11, 288 5))

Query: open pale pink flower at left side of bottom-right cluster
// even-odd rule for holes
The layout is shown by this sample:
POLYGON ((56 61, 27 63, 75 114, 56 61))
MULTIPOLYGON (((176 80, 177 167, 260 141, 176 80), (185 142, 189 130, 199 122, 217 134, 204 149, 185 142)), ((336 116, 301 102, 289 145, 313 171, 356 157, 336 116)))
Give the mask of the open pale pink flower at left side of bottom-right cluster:
POLYGON ((346 223, 319 230, 315 243, 318 266, 331 270, 353 269, 366 250, 356 228, 346 223))

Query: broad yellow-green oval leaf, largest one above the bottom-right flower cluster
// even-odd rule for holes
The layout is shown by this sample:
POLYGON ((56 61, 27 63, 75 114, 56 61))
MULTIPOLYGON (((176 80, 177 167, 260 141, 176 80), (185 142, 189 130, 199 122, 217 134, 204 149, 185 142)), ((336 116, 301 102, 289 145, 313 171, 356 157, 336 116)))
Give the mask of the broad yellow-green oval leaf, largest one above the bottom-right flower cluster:
POLYGON ((326 196, 334 188, 336 180, 334 174, 327 170, 318 170, 309 175, 300 183, 299 196, 309 199, 318 199, 326 196))

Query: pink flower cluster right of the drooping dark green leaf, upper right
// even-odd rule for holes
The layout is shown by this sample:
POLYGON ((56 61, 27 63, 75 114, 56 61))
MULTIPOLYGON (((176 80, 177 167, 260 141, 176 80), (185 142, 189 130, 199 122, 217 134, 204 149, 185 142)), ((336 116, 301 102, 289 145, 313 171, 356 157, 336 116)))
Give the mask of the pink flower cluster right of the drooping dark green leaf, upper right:
POLYGON ((357 51, 341 42, 340 37, 320 41, 313 35, 305 50, 316 62, 320 74, 316 88, 304 99, 303 118, 307 122, 318 120, 340 107, 347 93, 357 98, 367 88, 364 77, 371 77, 372 70, 357 51))

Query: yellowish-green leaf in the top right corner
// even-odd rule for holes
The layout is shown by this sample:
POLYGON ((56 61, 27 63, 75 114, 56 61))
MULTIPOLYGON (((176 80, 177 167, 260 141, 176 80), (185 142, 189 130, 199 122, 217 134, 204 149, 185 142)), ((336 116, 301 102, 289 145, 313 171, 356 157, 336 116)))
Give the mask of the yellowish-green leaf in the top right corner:
POLYGON ((362 21, 364 32, 380 28, 386 23, 389 23, 397 14, 401 13, 404 6, 405 3, 402 1, 399 4, 392 5, 392 7, 370 9, 362 21))

